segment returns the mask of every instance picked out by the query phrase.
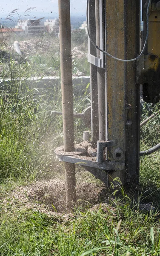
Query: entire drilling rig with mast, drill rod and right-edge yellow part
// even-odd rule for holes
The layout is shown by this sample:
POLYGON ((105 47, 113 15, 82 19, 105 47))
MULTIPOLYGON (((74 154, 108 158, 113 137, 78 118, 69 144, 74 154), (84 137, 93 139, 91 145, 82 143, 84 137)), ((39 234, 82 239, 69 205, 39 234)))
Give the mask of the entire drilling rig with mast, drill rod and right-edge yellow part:
POLYGON ((137 184, 140 157, 140 85, 143 86, 146 102, 155 104, 160 99, 160 1, 143 0, 144 32, 141 41, 140 0, 86 0, 91 144, 83 142, 74 146, 71 141, 74 116, 72 84, 69 81, 71 53, 68 50, 71 49, 71 42, 63 38, 70 33, 70 21, 67 22, 70 18, 69 12, 66 15, 69 4, 69 0, 59 0, 65 132, 64 147, 57 148, 55 152, 61 160, 70 163, 70 167, 67 166, 68 173, 71 168, 73 174, 74 164, 79 163, 106 184, 115 177, 119 177, 123 184, 137 184), (67 125, 71 127, 66 128, 67 125), (72 147, 68 146, 70 144, 72 147), (96 152, 96 157, 89 154, 90 145, 96 152))

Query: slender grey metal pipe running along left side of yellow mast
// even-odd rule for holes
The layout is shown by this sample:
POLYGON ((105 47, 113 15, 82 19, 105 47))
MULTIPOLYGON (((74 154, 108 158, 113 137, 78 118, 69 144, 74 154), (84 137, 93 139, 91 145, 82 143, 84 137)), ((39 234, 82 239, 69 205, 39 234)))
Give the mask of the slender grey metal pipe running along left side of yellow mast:
MULTIPOLYGON (((100 47, 100 2, 95 0, 96 11, 96 44, 100 47)), ((97 49, 97 57, 100 58, 100 50, 97 49)), ((97 67, 98 86, 98 120, 99 120, 99 140, 105 140, 105 69, 97 67)))

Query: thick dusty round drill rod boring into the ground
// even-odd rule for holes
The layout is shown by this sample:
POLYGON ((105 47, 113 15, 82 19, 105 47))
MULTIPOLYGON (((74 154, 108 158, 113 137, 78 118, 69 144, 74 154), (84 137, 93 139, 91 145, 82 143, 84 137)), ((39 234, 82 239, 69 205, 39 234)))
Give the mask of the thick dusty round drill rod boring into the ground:
MULTIPOLYGON (((74 151, 70 1, 58 0, 58 5, 64 151, 74 151)), ((66 204, 70 208, 72 202, 76 200, 75 166, 66 162, 64 166, 66 174, 66 204)))

